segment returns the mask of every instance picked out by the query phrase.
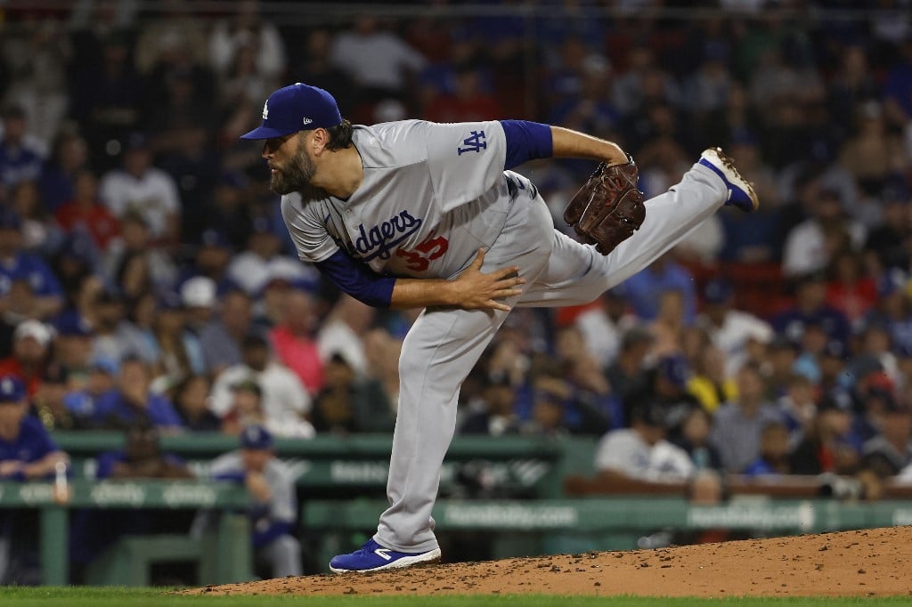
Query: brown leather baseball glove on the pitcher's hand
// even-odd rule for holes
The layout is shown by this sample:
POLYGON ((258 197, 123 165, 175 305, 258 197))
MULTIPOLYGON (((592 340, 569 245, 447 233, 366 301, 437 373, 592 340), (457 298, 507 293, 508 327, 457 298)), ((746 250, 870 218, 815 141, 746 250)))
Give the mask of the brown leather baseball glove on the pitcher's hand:
POLYGON ((638 174, 629 154, 625 164, 602 162, 567 204, 564 221, 603 255, 633 236, 646 219, 643 192, 637 190, 638 174))

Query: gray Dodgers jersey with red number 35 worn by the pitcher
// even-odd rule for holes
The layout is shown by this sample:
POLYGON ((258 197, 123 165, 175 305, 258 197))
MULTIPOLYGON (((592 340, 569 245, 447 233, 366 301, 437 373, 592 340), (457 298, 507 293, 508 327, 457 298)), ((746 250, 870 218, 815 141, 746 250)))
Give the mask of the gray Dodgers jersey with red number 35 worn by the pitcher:
POLYGON ((282 199, 306 262, 342 249, 378 273, 449 278, 494 242, 517 192, 534 191, 503 170, 506 141, 496 120, 358 125, 352 140, 364 179, 347 201, 282 199))

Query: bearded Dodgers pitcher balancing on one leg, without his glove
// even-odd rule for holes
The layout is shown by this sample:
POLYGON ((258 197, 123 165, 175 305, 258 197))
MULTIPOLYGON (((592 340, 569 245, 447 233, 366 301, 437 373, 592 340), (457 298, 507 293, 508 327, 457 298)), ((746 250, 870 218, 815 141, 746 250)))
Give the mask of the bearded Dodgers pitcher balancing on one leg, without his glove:
POLYGON ((399 359, 389 509, 361 549, 330 561, 336 572, 440 558, 430 513, 460 386, 513 305, 589 303, 722 205, 757 203, 731 159, 708 149, 605 255, 556 231, 534 183, 513 172, 553 157, 627 164, 604 139, 514 119, 352 125, 328 91, 301 82, 270 95, 262 125, 243 139, 264 142, 270 187, 303 261, 365 304, 429 309, 399 359))

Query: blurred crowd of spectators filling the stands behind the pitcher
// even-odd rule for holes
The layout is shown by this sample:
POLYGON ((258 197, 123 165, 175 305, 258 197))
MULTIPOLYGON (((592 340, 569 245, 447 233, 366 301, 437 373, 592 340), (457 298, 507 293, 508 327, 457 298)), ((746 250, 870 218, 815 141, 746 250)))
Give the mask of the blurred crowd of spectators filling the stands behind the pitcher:
MULTIPOLYGON (((867 3, 720 0, 694 20, 519 4, 313 26, 253 0, 7 10, 0 376, 49 430, 391 430, 417 311, 370 309, 299 262, 238 139, 304 81, 358 123, 525 118, 616 140, 648 196, 710 145, 756 185, 759 212, 718 213, 596 303, 514 311, 459 432, 604 436, 596 468, 646 480, 912 478, 909 3, 828 18, 867 3)), ((592 168, 520 171, 563 228, 592 168)))

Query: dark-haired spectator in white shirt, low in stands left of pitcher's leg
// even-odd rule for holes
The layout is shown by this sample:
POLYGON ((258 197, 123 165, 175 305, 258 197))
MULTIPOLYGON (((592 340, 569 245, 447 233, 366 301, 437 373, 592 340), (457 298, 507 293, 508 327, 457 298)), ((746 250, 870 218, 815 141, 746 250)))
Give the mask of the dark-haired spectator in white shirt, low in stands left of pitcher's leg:
POLYGON ((263 413, 277 434, 289 433, 301 426, 302 417, 313 405, 301 380, 284 365, 271 359, 269 342, 259 334, 248 334, 241 346, 243 362, 225 369, 212 384, 212 411, 224 416, 232 407, 232 388, 253 380, 263 393, 263 413))

